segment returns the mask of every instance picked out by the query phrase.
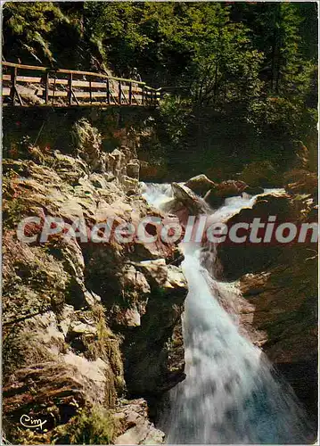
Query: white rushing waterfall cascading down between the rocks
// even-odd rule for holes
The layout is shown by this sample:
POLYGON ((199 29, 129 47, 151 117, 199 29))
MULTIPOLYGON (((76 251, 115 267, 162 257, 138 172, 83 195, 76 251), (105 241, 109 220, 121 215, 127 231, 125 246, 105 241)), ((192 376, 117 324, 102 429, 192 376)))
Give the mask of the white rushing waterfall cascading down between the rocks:
MULTIPOLYGON (((165 200, 169 185, 144 185, 151 204, 165 200)), ((255 197, 233 197, 212 215, 223 222, 255 197)), ((169 392, 169 408, 160 422, 169 444, 306 443, 308 422, 291 387, 266 356, 243 337, 236 319, 219 301, 232 286, 217 281, 204 263, 199 244, 181 246, 189 292, 183 334, 185 380, 169 392)), ((210 255, 215 260, 215 246, 210 255)), ((239 292, 238 292, 239 293, 239 292)))

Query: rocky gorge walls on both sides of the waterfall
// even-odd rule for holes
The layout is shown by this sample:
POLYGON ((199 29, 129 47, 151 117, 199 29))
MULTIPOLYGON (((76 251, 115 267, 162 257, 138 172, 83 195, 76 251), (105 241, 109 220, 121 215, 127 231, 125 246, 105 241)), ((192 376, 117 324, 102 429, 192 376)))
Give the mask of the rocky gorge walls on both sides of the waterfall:
MULTIPOLYGON (((70 153, 29 144, 4 159, 5 437, 14 444, 160 444, 159 402, 185 379, 188 287, 178 243, 94 244, 56 234, 25 244, 17 225, 36 215, 41 224, 29 230, 37 235, 46 216, 85 219, 87 227, 110 218, 183 220, 201 213, 203 199, 217 209, 243 193, 258 198, 232 222, 268 215, 314 222, 316 175, 308 172, 307 152, 278 191, 204 175, 183 186, 172 178, 172 202, 160 211, 142 195, 139 136, 122 128, 118 147, 106 152, 92 122, 79 120, 77 132, 70 153), (21 425, 23 415, 45 420, 44 430, 21 425)), ((152 225, 146 230, 154 234, 152 225)), ((221 277, 241 291, 221 304, 315 418, 315 244, 221 244, 217 261, 221 277)))

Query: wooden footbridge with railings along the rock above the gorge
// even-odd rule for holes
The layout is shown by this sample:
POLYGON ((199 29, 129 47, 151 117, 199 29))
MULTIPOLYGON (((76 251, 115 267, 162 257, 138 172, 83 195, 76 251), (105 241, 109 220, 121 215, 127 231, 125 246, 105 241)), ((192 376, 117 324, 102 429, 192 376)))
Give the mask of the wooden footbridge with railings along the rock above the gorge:
POLYGON ((4 106, 155 107, 160 90, 139 80, 90 71, 54 70, 2 62, 4 106))

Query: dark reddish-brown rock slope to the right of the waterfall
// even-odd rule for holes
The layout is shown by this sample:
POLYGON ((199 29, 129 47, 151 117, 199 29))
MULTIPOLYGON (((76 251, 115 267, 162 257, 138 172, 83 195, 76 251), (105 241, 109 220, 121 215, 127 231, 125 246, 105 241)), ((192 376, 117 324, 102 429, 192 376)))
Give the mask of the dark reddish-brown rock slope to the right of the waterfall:
MULTIPOLYGON (((310 195, 283 190, 258 196, 252 209, 243 209, 230 223, 276 216, 278 223, 315 221, 310 195)), ((234 307, 240 326, 253 343, 285 372, 307 409, 315 414, 317 349, 316 244, 238 244, 218 246, 218 258, 229 279, 238 278, 242 300, 234 307), (241 276, 241 277, 239 277, 241 276), (308 349, 306 349, 308 345, 308 349), (309 373, 299 375, 303 367, 309 373), (307 366, 308 365, 308 366, 307 366), (307 392, 307 389, 313 389, 307 392)))

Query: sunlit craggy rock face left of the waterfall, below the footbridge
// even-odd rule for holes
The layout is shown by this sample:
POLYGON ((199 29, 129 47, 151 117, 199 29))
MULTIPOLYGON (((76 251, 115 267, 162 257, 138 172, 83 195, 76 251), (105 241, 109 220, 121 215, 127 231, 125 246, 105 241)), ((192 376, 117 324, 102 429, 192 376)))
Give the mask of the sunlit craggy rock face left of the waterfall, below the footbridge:
MULTIPOLYGON (((103 153, 99 134, 82 124, 73 156, 48 153, 43 164, 6 161, 8 222, 51 215, 69 224, 85 219, 91 228, 110 218, 137 223, 150 212, 132 193, 139 175, 135 148, 103 153), (21 169, 27 177, 12 176, 21 169), (12 199, 19 200, 16 208, 12 199)), ((114 411, 126 389, 156 397, 184 378, 183 344, 174 341, 182 339, 187 290, 181 270, 167 264, 175 246, 94 244, 59 234, 46 244, 24 244, 10 224, 4 231, 4 414, 18 420, 12 432, 29 404, 33 417, 53 421, 41 441, 26 434, 26 444, 51 442, 62 425, 72 429, 81 410, 114 411)), ((32 230, 39 234, 41 225, 32 230)), ((120 412, 117 443, 163 442, 145 401, 128 401, 120 412)))

